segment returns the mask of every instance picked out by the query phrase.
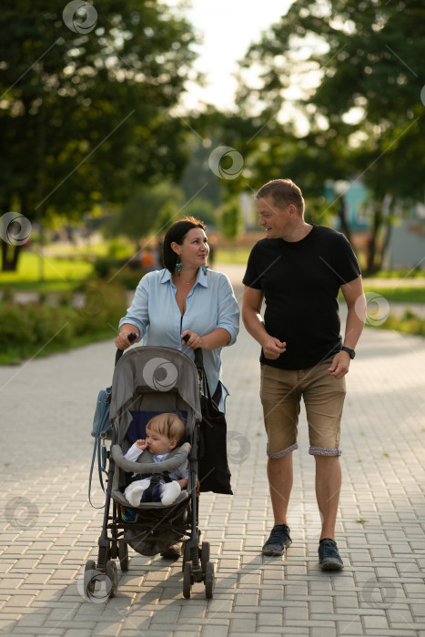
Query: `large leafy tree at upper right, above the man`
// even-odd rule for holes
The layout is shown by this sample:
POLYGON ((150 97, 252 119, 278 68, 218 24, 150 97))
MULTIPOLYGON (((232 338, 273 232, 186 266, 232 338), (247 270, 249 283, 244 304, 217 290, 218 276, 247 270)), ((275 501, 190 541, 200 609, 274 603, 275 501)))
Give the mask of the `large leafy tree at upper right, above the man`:
MULTIPOLYGON (((263 119, 271 107, 288 106, 294 78, 309 86, 296 103, 308 132, 299 133, 294 119, 286 126, 300 147, 301 181, 317 183, 325 171, 327 177, 361 177, 376 202, 372 253, 383 225, 388 237, 392 215, 382 214, 384 199, 400 207, 400 201, 423 198, 424 43, 419 0, 296 0, 241 66, 241 74, 248 66, 260 69, 256 88, 244 82, 239 97, 248 112, 263 105, 263 119)), ((287 166, 297 174, 294 161, 287 166)), ((371 271, 378 265, 369 262, 371 271)))

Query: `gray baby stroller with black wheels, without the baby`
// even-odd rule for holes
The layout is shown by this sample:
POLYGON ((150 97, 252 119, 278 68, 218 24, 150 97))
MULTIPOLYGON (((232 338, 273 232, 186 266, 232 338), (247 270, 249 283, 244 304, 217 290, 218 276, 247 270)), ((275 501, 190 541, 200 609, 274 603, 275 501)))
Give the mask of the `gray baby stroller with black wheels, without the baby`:
MULTIPOLYGON (((130 339, 131 340, 131 339, 130 339)), ((97 541, 97 563, 86 562, 86 599, 96 597, 96 582, 105 597, 117 590, 116 558, 121 571, 128 570, 128 545, 142 555, 155 555, 171 544, 182 542, 183 596, 190 598, 194 582, 203 581, 207 599, 213 596, 214 564, 209 561, 209 542, 200 542, 198 528, 197 449, 202 381, 202 350, 196 364, 177 349, 138 347, 116 352, 109 418, 111 446, 107 451, 107 489, 104 521, 97 541), (186 420, 186 438, 167 460, 157 463, 132 462, 124 454, 137 439, 146 437, 152 416, 175 412, 186 420), (169 506, 160 501, 141 502, 132 507, 124 496, 132 472, 167 476, 187 458, 187 490, 169 506), (112 504, 112 516, 110 509, 112 504), (108 535, 110 531, 110 535, 108 535)), ((144 455, 149 455, 144 452, 144 455)))

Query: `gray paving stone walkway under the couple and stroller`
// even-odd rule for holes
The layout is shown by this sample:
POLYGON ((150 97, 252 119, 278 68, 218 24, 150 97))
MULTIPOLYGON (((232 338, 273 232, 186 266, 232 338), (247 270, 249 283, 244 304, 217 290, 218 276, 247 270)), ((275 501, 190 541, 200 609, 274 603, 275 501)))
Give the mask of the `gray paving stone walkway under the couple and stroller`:
MULTIPOLYGON (((240 279, 239 279, 240 280, 240 279)), ((238 295, 240 288, 236 288, 238 295)), ((130 549, 115 598, 86 602, 102 511, 87 501, 91 424, 115 351, 99 343, 0 367, 0 630, 48 637, 221 637, 242 633, 425 637, 425 340, 365 329, 349 372, 337 527, 345 562, 319 570, 319 513, 305 414, 299 424, 284 559, 260 549, 272 526, 258 346, 241 328, 224 354, 233 497, 202 494, 216 565, 182 596, 181 560, 130 549)), ((96 488, 94 500, 103 504, 96 488)))

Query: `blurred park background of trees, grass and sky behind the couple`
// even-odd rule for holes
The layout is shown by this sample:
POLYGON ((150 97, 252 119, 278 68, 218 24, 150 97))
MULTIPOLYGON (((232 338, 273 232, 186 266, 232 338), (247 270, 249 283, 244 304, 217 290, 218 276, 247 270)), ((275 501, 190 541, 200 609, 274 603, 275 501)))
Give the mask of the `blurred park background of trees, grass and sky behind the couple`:
POLYGON ((0 363, 112 339, 179 217, 242 267, 277 177, 349 238, 369 327, 425 335, 420 0, 5 0, 0 29, 0 363))

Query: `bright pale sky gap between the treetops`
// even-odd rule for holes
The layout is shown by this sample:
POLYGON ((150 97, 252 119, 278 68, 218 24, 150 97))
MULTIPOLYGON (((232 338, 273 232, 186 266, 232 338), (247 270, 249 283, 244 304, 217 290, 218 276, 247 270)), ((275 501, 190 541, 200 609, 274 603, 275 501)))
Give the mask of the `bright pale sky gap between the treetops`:
POLYGON ((232 73, 238 68, 238 60, 252 42, 260 39, 262 31, 288 11, 291 1, 192 0, 186 15, 196 32, 203 35, 203 43, 196 47, 199 57, 195 67, 206 74, 206 86, 187 84, 184 105, 196 108, 204 101, 231 108, 237 87, 232 73))

